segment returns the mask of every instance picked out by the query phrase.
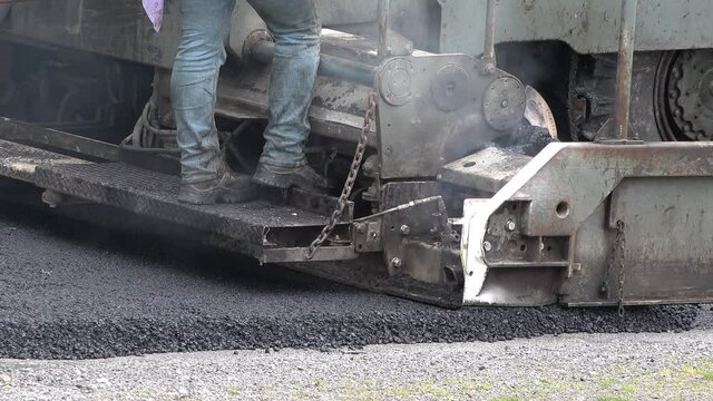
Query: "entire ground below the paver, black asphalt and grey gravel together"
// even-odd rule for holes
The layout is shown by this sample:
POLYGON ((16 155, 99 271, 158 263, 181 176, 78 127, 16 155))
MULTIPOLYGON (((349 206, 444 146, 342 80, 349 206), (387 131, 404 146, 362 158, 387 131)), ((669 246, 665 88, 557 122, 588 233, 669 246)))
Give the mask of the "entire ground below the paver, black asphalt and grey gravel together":
POLYGON ((0 182, 0 400, 713 399, 710 305, 449 311, 36 195, 0 182))

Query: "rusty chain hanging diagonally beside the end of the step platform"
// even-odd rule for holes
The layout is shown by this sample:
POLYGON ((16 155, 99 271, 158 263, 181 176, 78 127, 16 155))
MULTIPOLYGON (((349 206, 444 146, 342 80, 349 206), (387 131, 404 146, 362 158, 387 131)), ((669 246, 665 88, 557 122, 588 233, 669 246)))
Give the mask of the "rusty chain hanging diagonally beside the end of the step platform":
POLYGON ((346 207, 349 197, 354 189, 354 184, 356 184, 356 177, 359 176, 359 170, 361 169, 361 163, 364 159, 364 154, 367 153, 367 145, 369 144, 369 133, 371 133, 372 119, 377 113, 377 99, 378 97, 375 92, 369 95, 369 106, 367 107, 367 113, 364 114, 364 125, 361 129, 359 141, 356 143, 356 151, 354 153, 354 159, 352 160, 352 165, 349 169, 346 182, 344 182, 342 194, 340 195, 339 200, 336 200, 336 207, 330 216, 329 223, 326 223, 324 228, 322 228, 320 235, 318 235, 312 244, 310 244, 310 247, 307 247, 307 254, 305 255, 306 260, 312 260, 314 257, 314 254, 316 254, 316 252, 324 244, 330 234, 332 234, 332 231, 334 231, 340 216, 346 207))

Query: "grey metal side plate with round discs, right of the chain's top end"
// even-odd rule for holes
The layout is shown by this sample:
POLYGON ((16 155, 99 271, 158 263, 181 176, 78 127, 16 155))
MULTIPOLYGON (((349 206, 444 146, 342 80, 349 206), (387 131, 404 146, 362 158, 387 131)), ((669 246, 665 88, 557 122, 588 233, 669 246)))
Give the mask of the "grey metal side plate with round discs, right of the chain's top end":
MULTIPOLYGON (((481 62, 463 55, 417 53, 381 65, 378 82, 383 101, 378 121, 382 178, 436 177, 445 164, 502 135, 484 117, 484 96, 497 79, 518 80, 500 70, 482 76, 478 72, 481 62), (443 79, 438 78, 439 71, 443 79), (466 101, 457 104, 449 98, 466 101)), ((524 91, 521 85, 519 89, 524 91)), ((522 114, 509 117, 519 121, 522 114)))

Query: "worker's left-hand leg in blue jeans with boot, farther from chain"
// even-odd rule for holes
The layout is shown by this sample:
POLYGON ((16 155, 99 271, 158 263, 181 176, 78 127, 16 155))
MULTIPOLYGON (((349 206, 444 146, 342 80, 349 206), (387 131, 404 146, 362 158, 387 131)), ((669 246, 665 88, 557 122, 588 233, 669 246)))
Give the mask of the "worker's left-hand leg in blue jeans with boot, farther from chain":
POLYGON ((170 80, 182 150, 178 199, 193 204, 254 196, 248 177, 226 170, 215 127, 218 71, 235 0, 182 0, 183 33, 170 80))

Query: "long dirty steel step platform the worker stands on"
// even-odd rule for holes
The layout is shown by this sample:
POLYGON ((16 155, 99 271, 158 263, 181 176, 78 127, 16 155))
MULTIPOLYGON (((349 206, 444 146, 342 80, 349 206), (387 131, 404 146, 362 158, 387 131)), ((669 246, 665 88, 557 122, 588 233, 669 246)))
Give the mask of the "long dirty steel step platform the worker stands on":
MULTIPOLYGON (((331 209, 325 199, 302 199, 313 208, 305 209, 299 205, 299 196, 291 195, 285 199, 280 194, 266 195, 274 200, 186 205, 177 200, 177 176, 125 163, 90 163, 7 140, 0 140, 0 175, 32 183, 69 198, 118 207, 205 232, 214 236, 212 242, 263 263, 304 262, 306 246, 328 223, 325 213, 313 209, 331 209)), ((355 257, 351 246, 328 244, 312 261, 355 257)))

